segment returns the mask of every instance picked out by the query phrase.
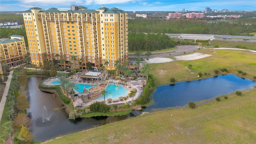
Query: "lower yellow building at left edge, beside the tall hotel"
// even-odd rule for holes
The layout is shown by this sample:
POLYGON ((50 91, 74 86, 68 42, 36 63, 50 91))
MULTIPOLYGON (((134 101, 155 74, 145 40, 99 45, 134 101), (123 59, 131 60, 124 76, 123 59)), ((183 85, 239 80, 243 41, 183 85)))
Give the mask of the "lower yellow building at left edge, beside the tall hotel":
POLYGON ((24 36, 12 35, 0 39, 0 60, 9 66, 17 66, 27 55, 24 36))

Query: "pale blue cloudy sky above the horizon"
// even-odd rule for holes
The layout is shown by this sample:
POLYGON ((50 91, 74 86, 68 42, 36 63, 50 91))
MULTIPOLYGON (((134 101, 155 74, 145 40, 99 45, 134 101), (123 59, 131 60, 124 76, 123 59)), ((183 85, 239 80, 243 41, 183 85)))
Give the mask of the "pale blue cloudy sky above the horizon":
POLYGON ((256 0, 0 0, 0 11, 24 11, 33 6, 48 9, 70 9, 71 5, 88 9, 119 8, 125 11, 202 11, 212 10, 256 10, 256 0))

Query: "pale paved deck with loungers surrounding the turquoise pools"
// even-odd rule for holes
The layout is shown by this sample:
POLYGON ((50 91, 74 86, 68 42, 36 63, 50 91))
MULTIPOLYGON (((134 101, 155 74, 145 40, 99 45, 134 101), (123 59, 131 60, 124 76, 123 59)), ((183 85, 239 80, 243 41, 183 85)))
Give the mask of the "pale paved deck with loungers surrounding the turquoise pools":
MULTIPOLYGON (((90 82, 90 83, 88 83, 88 82, 84 82, 82 79, 81 80, 79 80, 80 78, 77 76, 77 75, 74 75, 73 77, 70 77, 69 78, 69 80, 70 81, 72 81, 72 82, 76 82, 76 84, 89 84, 89 85, 97 85, 98 84, 98 86, 94 86, 93 87, 93 91, 96 91, 96 90, 103 90, 104 89, 104 85, 103 84, 99 84, 99 82, 90 82)), ((58 80, 58 78, 49 78, 49 79, 47 79, 47 80, 45 80, 44 81, 44 85, 48 85, 48 86, 54 86, 54 85, 52 85, 52 84, 50 84, 50 82, 52 82, 52 81, 54 81, 54 80, 58 80)), ((145 80, 146 81, 146 80, 145 80)), ((135 90, 136 89, 136 93, 134 94, 134 96, 133 97, 130 97, 130 96, 128 96, 128 94, 127 95, 125 95, 125 96, 123 96, 124 98, 126 97, 127 98, 127 100, 125 101, 125 100, 120 100, 120 99, 112 99, 112 102, 108 102, 107 101, 107 98, 106 98, 106 104, 108 104, 108 105, 114 105, 114 104, 116 104, 116 105, 122 105, 122 104, 131 104, 131 102, 132 102, 132 100, 136 100, 137 98, 139 98, 140 96, 141 96, 141 94, 143 93, 143 90, 142 90, 142 85, 143 85, 143 83, 142 83, 142 80, 131 80, 131 83, 130 82, 126 82, 126 85, 125 85, 125 82, 121 82, 121 84, 118 84, 119 83, 119 80, 113 80, 113 79, 110 79, 110 80, 106 80, 105 81, 107 84, 115 84, 115 85, 117 85, 117 86, 122 86, 122 87, 124 87, 126 90, 129 90, 129 91, 131 91, 131 90, 135 90), (129 84, 130 83, 130 84, 129 84), (130 87, 129 87, 129 85, 130 85, 130 87)), ((145 85, 146 83, 144 83, 144 85, 145 85)), ((76 94, 78 94, 78 92, 76 92, 76 94)), ((73 102, 73 100, 72 100, 72 98, 70 98, 71 99, 71 101, 72 101, 72 103, 73 103, 73 106, 74 106, 74 103, 77 101, 77 100, 79 100, 80 98, 77 98, 77 97, 75 97, 74 98, 74 102, 73 102)), ((92 100, 90 100, 90 102, 88 102, 87 104, 84 104, 84 103, 82 103, 81 105, 82 105, 82 107, 87 107, 87 106, 90 106, 90 104, 92 104, 94 101, 92 101, 92 100)), ((104 102, 104 100, 99 100, 98 102, 104 102)), ((75 107, 75 106, 74 106, 75 107)), ((76 109, 78 108, 78 107, 75 107, 76 109)))

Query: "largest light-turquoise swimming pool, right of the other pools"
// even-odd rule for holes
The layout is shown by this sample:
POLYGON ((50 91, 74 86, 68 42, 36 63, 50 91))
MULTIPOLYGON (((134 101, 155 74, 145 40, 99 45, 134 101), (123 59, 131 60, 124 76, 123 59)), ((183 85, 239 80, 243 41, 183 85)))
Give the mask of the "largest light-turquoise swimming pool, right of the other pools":
MULTIPOLYGON (((106 88, 106 94, 105 94, 105 100, 108 98, 111 98, 112 100, 118 99, 120 96, 126 96, 129 93, 129 90, 126 90, 122 86, 116 86, 114 84, 108 84, 108 87, 106 88), (119 89, 118 89, 119 88, 119 89)), ((93 100, 98 101, 98 100, 104 100, 104 96, 100 96, 99 98, 93 100)))

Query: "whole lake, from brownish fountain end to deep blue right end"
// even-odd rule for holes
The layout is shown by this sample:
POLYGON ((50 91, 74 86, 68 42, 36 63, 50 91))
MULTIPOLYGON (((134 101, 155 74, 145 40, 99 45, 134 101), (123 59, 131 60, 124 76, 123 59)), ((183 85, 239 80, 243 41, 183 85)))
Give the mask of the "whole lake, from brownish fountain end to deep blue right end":
POLYGON ((30 102, 28 112, 31 112, 31 125, 29 126, 36 141, 45 141, 57 136, 80 132, 127 118, 138 116, 142 112, 152 112, 155 108, 184 106, 189 101, 206 100, 228 94, 236 90, 253 88, 256 82, 242 79, 235 75, 225 75, 208 79, 178 82, 174 86, 159 86, 153 94, 154 104, 142 111, 132 111, 126 116, 84 118, 78 121, 68 120, 68 115, 54 94, 42 92, 38 89, 41 78, 30 77, 28 80, 27 96, 30 102), (50 121, 44 119, 44 106, 50 116, 50 121))

